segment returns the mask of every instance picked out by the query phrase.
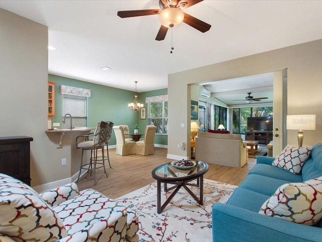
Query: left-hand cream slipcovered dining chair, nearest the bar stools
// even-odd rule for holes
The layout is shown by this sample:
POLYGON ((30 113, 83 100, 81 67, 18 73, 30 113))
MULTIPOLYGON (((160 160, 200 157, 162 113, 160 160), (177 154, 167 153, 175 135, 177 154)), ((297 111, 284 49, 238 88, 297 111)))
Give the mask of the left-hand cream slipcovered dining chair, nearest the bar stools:
POLYGON ((115 154, 117 155, 135 154, 135 142, 131 140, 125 140, 123 127, 113 126, 113 130, 116 138, 115 154))

